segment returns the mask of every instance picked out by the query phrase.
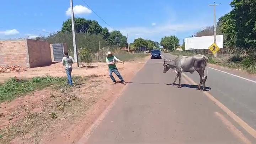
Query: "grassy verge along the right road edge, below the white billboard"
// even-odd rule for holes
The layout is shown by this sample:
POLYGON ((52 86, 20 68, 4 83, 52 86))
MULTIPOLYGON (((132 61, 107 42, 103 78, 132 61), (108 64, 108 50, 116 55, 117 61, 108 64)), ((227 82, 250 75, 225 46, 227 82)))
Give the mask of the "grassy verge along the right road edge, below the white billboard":
MULTIPOLYGON (((184 56, 191 56, 195 55, 192 52, 170 52, 173 55, 184 55, 184 56)), ((249 60, 245 58, 241 62, 232 62, 231 57, 227 55, 219 54, 217 58, 212 58, 212 55, 206 55, 208 57, 208 62, 211 64, 217 64, 221 66, 225 66, 227 68, 231 69, 242 69, 244 71, 247 71, 249 74, 256 74, 256 62, 253 62, 252 60, 249 60)))

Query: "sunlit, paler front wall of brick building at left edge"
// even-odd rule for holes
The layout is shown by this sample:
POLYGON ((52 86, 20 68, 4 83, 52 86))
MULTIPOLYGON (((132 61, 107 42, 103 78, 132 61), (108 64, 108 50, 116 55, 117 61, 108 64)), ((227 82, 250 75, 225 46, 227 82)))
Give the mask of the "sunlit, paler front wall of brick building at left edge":
POLYGON ((20 65, 22 67, 29 67, 26 40, 0 41, 0 65, 20 65))

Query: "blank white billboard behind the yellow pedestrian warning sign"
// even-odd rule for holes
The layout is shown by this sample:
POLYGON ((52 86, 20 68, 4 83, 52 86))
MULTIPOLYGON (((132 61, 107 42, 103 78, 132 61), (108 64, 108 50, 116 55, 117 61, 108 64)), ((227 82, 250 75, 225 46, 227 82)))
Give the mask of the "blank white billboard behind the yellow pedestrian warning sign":
MULTIPOLYGON (((213 44, 213 36, 190 37, 185 39, 185 50, 208 49, 213 44)), ((223 35, 217 35, 217 46, 223 48, 223 35)))

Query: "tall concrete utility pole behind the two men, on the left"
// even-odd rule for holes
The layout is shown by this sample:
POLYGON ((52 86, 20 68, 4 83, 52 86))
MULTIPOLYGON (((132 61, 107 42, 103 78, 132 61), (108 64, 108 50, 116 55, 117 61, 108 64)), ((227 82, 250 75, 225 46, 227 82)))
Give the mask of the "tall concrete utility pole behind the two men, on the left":
POLYGON ((78 52, 77 52, 77 48, 76 48, 76 39, 75 39, 75 22, 74 22, 73 0, 70 0, 70 7, 71 7, 71 23, 72 23, 72 35, 73 35, 74 60, 75 60, 75 62, 77 63, 77 65, 79 67, 78 52))

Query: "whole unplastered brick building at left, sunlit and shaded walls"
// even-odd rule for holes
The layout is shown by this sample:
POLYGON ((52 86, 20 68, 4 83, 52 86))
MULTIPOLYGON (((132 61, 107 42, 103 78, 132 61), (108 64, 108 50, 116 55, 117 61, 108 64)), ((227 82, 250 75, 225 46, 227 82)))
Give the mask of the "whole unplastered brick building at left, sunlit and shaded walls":
POLYGON ((33 39, 0 41, 0 65, 39 67, 52 64, 50 44, 33 39))

